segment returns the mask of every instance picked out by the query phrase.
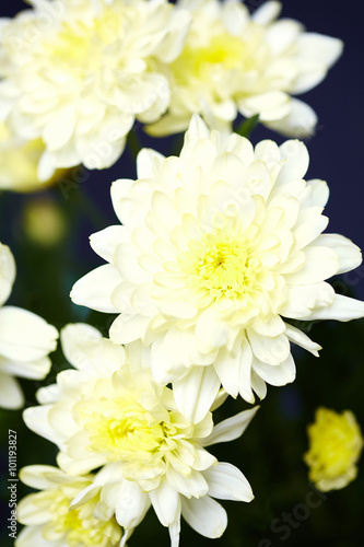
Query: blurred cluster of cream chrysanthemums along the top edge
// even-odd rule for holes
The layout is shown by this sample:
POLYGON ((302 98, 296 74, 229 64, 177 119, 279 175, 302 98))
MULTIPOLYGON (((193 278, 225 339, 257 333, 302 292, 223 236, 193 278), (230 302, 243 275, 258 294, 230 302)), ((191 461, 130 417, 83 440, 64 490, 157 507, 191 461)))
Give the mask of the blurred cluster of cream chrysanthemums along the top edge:
POLYGON ((23 146, 37 143, 40 182, 59 167, 110 166, 136 119, 169 135, 193 113, 221 130, 259 114, 284 135, 309 135, 316 114, 291 94, 317 85, 342 50, 275 21, 275 1, 251 16, 237 0, 30 3, 1 25, 0 118, 23 146))

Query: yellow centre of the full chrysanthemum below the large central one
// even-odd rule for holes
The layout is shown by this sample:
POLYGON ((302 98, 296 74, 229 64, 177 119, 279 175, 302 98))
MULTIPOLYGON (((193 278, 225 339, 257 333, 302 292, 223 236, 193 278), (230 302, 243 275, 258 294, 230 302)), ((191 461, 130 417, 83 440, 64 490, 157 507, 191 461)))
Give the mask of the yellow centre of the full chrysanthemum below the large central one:
POLYGON ((89 432, 86 450, 103 454, 105 463, 122 463, 125 477, 148 491, 157 486, 169 458, 178 458, 180 443, 193 437, 195 428, 164 406, 163 394, 168 396, 169 391, 165 387, 156 394, 150 371, 134 376, 116 372, 96 388, 95 396, 75 404, 74 419, 89 432))

